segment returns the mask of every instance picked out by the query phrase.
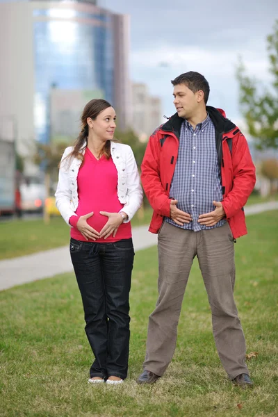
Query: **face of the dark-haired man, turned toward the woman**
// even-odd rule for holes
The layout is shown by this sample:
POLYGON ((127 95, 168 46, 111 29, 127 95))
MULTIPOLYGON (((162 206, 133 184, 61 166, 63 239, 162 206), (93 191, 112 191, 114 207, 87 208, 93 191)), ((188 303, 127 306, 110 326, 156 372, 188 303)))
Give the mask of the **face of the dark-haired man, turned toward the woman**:
POLYGON ((193 92, 184 84, 174 85, 174 106, 179 117, 188 119, 193 117, 198 108, 199 92, 193 92))

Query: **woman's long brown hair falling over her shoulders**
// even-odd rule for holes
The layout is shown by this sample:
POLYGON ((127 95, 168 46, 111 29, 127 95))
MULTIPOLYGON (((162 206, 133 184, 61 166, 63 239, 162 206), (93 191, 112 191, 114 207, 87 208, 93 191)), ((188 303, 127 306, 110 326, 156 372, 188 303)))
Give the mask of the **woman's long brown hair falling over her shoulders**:
MULTIPOLYGON (((92 120, 95 120, 97 116, 99 115, 99 113, 101 113, 101 111, 104 111, 108 107, 111 107, 111 104, 108 103, 108 101, 104 99, 92 99, 85 105, 83 113, 81 115, 81 131, 79 133, 79 137, 74 142, 74 149, 72 150, 72 152, 70 152, 69 155, 67 155, 63 159, 63 161, 65 161, 65 159, 67 158, 69 158, 69 161, 72 158, 78 158, 81 160, 81 163, 83 163, 84 156, 81 153, 81 148, 83 148, 84 144, 87 145, 87 141, 88 141, 89 126, 87 123, 87 119, 88 117, 90 117, 92 120)), ((106 140, 106 143, 103 149, 101 150, 101 154, 104 154, 107 159, 110 158, 111 156, 111 141, 110 140, 106 140)))

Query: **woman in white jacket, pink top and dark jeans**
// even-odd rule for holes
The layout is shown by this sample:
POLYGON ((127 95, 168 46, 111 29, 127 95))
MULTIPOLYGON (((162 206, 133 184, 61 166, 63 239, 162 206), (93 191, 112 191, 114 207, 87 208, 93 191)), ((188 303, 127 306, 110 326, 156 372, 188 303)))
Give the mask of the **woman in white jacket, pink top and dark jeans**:
POLYGON ((86 104, 79 138, 63 154, 55 195, 72 227, 70 254, 95 355, 91 384, 122 383, 129 359, 130 220, 142 188, 131 147, 113 141, 115 120, 108 101, 86 104))

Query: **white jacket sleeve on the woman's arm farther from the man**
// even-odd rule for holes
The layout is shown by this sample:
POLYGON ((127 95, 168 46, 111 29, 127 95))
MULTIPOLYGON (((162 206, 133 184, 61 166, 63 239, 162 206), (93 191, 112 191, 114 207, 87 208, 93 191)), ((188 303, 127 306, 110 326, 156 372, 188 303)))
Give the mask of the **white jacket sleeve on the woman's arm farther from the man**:
POLYGON ((58 184, 57 190, 55 193, 56 197, 56 206, 60 214, 62 215, 65 222, 70 226, 70 218, 72 215, 76 215, 72 208, 70 208, 70 203, 72 201, 72 191, 70 190, 70 179, 67 170, 67 163, 64 161, 65 157, 70 154, 71 149, 65 149, 65 152, 62 156, 60 169, 59 169, 59 177, 58 177, 58 184))

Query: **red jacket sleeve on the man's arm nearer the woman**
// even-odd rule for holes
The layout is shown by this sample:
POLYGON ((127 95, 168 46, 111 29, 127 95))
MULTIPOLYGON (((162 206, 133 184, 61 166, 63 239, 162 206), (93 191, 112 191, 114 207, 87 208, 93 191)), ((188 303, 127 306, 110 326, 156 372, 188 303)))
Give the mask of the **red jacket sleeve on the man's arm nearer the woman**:
POLYGON ((171 199, 165 192, 161 183, 159 172, 159 156, 161 148, 158 141, 157 133, 155 132, 147 144, 145 156, 141 165, 141 181, 142 186, 156 213, 170 217, 170 202, 171 199))

